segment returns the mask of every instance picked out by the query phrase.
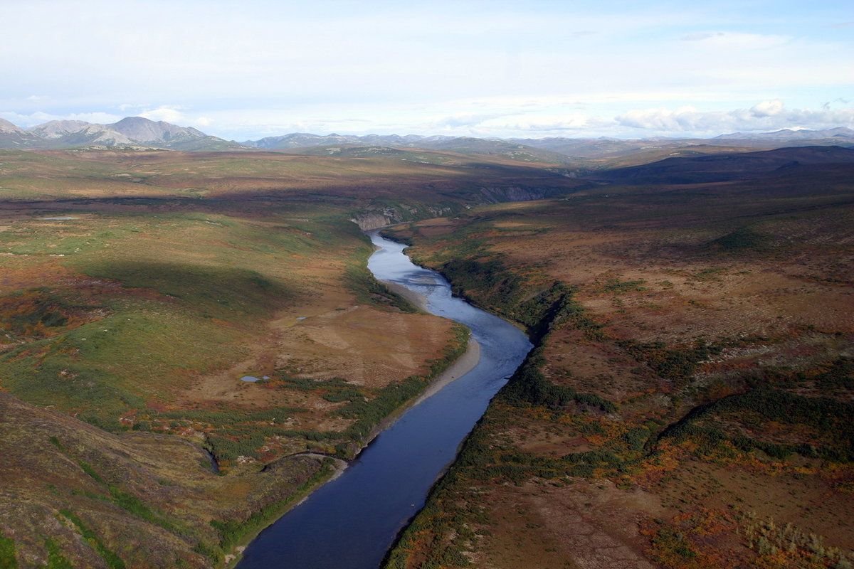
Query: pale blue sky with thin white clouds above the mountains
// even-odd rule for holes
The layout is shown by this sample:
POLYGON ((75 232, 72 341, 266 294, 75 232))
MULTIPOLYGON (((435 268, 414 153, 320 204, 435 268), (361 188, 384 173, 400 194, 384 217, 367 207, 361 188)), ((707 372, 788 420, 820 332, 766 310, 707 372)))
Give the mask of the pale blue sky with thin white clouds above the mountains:
POLYGON ((854 128, 851 0, 0 0, 0 117, 289 132, 854 128))

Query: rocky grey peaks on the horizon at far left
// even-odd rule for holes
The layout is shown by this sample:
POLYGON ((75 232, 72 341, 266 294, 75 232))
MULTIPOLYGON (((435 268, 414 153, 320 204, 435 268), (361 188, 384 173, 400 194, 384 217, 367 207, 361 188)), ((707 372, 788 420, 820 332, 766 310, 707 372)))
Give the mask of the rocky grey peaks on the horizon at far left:
POLYGON ((188 126, 143 117, 126 117, 112 125, 83 120, 51 120, 25 131, 0 119, 0 148, 79 148, 144 146, 173 150, 240 150, 245 147, 188 126))

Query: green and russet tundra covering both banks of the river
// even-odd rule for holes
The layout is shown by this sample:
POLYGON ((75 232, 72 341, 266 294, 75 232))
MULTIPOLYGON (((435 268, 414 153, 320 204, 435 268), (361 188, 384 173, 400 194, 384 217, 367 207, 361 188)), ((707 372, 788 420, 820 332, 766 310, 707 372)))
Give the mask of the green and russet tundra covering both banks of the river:
POLYGON ((227 565, 453 361, 351 219, 537 344, 389 566, 849 566, 854 189, 816 153, 0 152, 0 567, 227 565))

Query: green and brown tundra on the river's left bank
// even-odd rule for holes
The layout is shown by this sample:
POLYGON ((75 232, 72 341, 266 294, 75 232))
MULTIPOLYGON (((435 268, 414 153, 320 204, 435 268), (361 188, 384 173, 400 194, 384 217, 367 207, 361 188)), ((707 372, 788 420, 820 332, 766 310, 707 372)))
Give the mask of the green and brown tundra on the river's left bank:
POLYGON ((468 337, 352 219, 572 185, 445 158, 0 152, 0 566, 222 566, 352 458, 468 337))

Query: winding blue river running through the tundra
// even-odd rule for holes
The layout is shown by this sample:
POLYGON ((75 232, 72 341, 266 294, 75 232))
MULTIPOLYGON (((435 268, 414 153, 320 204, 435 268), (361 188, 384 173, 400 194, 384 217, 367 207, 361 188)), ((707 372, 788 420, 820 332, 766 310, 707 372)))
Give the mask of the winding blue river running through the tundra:
POLYGON ((412 264, 403 253, 406 246, 376 232, 371 241, 379 247, 368 260, 374 276, 423 294, 431 313, 471 328, 481 345, 480 362, 408 409, 340 477, 262 531, 238 569, 377 569, 531 348, 518 328, 451 296, 441 275, 412 264))

